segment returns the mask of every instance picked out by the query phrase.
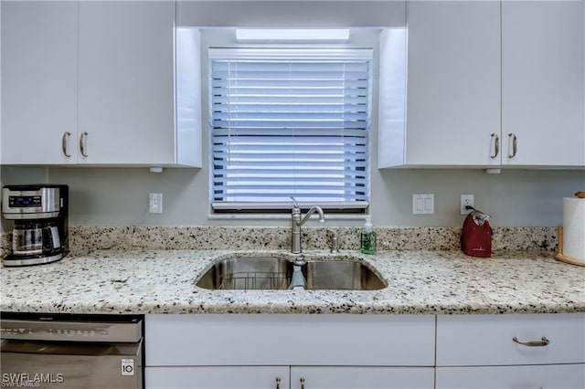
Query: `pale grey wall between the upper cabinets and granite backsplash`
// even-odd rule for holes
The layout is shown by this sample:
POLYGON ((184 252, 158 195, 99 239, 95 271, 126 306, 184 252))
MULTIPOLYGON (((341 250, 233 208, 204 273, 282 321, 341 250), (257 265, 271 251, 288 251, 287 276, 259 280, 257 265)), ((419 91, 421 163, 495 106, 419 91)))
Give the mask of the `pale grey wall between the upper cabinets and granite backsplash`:
MULTIPOLYGON (((2 167, 2 184, 39 182, 39 169, 2 167)), ((207 172, 144 168, 50 168, 48 181, 69 184, 72 226, 289 226, 288 216, 209 219, 207 172), (162 215, 148 215, 148 193, 162 193, 162 215)), ((475 195, 492 226, 562 225, 562 197, 583 190, 583 171, 386 170, 372 172, 371 213, 376 226, 461 226, 459 195, 475 195), (435 214, 413 216, 411 195, 435 194, 435 214)), ((327 226, 363 222, 329 220, 327 226)))

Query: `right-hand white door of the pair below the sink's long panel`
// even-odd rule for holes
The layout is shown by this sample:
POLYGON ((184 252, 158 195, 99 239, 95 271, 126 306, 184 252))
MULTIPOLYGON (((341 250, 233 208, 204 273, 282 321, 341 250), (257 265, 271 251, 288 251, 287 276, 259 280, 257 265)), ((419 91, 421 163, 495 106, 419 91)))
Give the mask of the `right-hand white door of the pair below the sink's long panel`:
POLYGON ((432 389, 432 367, 291 368, 291 389, 432 389))

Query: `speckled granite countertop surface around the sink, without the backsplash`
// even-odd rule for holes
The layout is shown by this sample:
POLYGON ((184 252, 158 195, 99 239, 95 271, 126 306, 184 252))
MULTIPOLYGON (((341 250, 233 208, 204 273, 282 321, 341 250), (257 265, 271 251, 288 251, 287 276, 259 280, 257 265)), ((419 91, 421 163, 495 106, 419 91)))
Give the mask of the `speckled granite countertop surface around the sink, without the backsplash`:
MULTIPOLYGON (((281 251, 246 250, 246 253, 281 251)), ((551 252, 383 251, 361 258, 385 289, 207 290, 196 279, 229 250, 102 250, 53 264, 2 268, 2 311, 69 313, 585 312, 585 268, 551 252)), ((331 258, 325 251, 307 257, 331 258)))

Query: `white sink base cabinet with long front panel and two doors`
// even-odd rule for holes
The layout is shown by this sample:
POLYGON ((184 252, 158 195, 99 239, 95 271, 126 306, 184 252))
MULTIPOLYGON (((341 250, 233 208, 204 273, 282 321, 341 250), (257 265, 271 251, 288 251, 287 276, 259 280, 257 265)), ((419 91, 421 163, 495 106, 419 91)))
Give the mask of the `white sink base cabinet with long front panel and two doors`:
POLYGON ((145 340, 147 389, 434 386, 432 315, 146 315, 145 340))

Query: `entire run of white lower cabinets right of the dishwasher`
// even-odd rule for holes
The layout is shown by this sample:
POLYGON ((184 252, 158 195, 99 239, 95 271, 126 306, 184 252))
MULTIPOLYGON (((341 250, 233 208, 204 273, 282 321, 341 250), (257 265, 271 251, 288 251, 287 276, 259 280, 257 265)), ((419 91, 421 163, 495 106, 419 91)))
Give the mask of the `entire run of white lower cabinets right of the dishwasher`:
POLYGON ((147 389, 585 388, 585 313, 146 315, 147 389))

